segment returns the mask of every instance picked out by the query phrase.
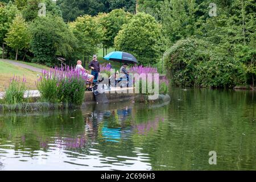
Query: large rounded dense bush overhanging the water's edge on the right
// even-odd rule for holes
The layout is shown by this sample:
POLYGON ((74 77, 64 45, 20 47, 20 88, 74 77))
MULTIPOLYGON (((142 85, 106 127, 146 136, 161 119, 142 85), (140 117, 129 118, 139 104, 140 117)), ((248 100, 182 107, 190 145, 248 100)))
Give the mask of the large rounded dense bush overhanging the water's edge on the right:
POLYGON ((180 40, 164 54, 164 64, 178 86, 233 87, 246 84, 246 68, 206 42, 180 40))

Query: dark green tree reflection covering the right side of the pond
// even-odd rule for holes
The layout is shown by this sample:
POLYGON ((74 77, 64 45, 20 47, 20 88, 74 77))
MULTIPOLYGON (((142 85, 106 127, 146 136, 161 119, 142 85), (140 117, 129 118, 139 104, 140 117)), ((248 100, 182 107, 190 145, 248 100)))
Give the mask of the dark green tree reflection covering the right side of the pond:
POLYGON ((143 140, 146 143, 143 148, 151 156, 152 169, 249 169, 248 166, 255 166, 252 146, 256 143, 253 122, 256 100, 251 100, 250 92, 174 90, 171 97, 168 114, 162 110, 152 111, 166 115, 165 122, 160 122, 158 130, 143 140), (217 151, 217 167, 208 164, 208 152, 212 150, 217 151))

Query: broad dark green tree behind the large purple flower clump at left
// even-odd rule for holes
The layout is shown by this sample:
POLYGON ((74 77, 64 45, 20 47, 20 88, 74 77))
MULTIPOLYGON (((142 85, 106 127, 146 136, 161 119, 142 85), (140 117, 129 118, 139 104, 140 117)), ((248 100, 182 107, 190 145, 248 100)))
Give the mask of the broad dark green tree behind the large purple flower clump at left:
POLYGON ((30 25, 30 34, 30 48, 36 63, 58 64, 56 55, 70 55, 77 46, 73 32, 59 16, 36 18, 30 25))

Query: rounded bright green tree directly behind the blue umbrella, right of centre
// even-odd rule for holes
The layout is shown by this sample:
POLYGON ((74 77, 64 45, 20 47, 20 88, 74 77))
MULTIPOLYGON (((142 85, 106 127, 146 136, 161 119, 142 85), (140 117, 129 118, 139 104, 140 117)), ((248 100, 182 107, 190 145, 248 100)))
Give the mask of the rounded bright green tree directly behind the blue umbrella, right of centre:
POLYGON ((149 14, 138 13, 124 24, 115 37, 115 48, 132 53, 140 64, 149 65, 159 61, 161 26, 149 14))

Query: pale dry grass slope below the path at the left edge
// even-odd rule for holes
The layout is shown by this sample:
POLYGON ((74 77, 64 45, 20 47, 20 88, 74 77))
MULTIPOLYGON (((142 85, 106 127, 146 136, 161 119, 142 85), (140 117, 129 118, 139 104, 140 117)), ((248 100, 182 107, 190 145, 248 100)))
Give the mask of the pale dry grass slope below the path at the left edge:
POLYGON ((3 92, 5 88, 9 86, 10 78, 13 78, 14 75, 18 76, 20 80, 25 76, 27 88, 32 90, 36 89, 35 81, 38 80, 38 73, 0 61, 0 92, 3 92))

